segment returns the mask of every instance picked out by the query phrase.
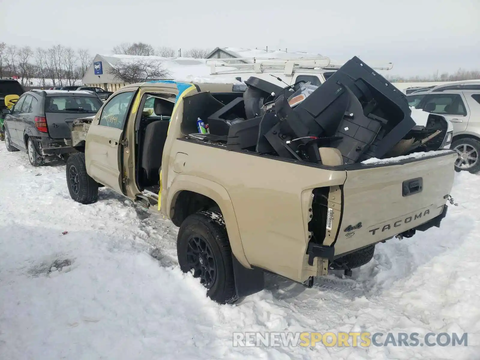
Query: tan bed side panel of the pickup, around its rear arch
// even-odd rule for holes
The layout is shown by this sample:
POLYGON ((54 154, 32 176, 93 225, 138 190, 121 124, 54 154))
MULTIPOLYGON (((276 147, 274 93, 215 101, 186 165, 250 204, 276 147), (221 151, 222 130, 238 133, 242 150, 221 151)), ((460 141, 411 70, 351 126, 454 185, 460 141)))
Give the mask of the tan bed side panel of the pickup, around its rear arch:
POLYGON ((183 173, 227 190, 248 263, 301 281, 311 192, 343 184, 346 171, 180 142, 189 154, 183 173))

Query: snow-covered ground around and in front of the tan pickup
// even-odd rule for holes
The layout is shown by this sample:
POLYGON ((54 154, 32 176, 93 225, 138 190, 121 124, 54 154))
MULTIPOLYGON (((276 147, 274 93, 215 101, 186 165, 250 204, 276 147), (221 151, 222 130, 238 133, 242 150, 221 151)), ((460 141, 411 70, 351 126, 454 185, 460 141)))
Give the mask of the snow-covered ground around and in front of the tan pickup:
POLYGON ((220 306, 180 272, 169 221, 104 188, 77 204, 62 163, 0 145, 2 360, 480 358, 480 176, 456 174, 442 228, 377 245, 351 279, 269 276, 220 306), (468 332, 468 347, 233 347, 234 331, 468 332))

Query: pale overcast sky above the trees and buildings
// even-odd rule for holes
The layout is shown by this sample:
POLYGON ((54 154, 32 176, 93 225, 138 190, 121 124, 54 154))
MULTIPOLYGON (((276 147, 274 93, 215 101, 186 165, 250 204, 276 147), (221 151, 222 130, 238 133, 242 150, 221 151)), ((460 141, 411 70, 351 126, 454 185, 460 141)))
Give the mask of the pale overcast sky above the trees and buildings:
POLYGON ((480 70, 480 0, 0 0, 0 42, 110 54, 155 47, 281 48, 393 62, 389 74, 480 70))

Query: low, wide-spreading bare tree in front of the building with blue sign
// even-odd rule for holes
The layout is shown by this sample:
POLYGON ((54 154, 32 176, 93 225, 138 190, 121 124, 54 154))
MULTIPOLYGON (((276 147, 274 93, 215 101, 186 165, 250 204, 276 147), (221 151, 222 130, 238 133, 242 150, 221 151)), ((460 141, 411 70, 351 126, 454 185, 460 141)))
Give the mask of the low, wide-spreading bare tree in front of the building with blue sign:
POLYGON ((162 68, 162 63, 155 60, 140 60, 135 62, 118 61, 108 69, 108 73, 124 83, 137 83, 147 79, 165 79, 170 75, 162 68))

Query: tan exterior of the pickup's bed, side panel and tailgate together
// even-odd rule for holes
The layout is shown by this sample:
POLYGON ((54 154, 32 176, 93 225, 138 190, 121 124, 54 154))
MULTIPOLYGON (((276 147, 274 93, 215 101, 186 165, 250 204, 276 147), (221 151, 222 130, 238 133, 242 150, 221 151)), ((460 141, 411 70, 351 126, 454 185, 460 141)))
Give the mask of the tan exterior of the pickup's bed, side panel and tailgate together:
MULTIPOLYGON (((453 151, 439 151, 386 163, 327 167, 185 138, 173 144, 172 154, 180 152, 188 155, 182 157, 186 160, 175 181, 225 189, 248 262, 299 282, 318 271, 318 264, 306 265, 312 241, 338 257, 441 215, 456 158, 453 151), (402 185, 418 178, 421 191, 403 196, 402 185), (359 223, 360 228, 346 231, 359 223)), ((162 181, 169 181, 168 175, 162 181)), ((170 189, 164 195, 168 199, 162 196, 162 208, 168 209, 174 194, 170 189)))

